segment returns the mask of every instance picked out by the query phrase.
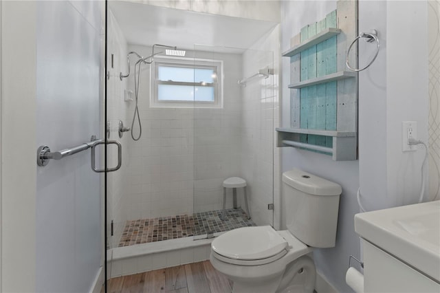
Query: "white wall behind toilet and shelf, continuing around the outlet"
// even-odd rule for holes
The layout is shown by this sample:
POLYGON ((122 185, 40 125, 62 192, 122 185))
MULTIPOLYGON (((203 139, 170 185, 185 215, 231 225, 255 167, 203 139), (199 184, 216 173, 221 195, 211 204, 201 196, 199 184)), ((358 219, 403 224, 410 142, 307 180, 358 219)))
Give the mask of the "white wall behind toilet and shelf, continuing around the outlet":
MULTIPOLYGON (((283 3, 282 50, 304 25, 336 9, 335 1, 283 3), (300 16, 295 18, 295 16, 300 16)), ((359 161, 333 162, 325 155, 283 149, 283 170, 298 166, 341 184, 342 196, 335 248, 314 252, 318 271, 340 292, 351 292, 344 281, 349 254, 359 254, 353 215, 359 184, 369 209, 417 202, 423 150, 401 152, 401 121, 418 122, 419 139, 428 140, 428 41, 424 1, 360 1, 359 30, 378 30, 377 60, 359 75, 359 161), (410 44, 404 34, 410 34, 410 44), (417 44, 417 45, 412 45, 417 44)), ((371 58, 369 44, 360 42, 360 64, 371 58)), ((288 84, 283 61, 283 87, 288 84), (285 73, 285 74, 284 74, 285 73)), ((288 90, 283 89, 283 124, 289 122, 288 90)))

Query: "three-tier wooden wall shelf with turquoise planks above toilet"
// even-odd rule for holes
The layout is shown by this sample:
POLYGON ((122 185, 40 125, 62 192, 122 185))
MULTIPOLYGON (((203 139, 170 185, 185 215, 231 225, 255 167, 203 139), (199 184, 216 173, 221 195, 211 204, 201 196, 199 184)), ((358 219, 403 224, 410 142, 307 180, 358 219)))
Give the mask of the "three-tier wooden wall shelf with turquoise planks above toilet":
POLYGON ((290 59, 288 87, 298 90, 289 91, 289 128, 276 128, 276 146, 357 160, 358 73, 346 69, 344 58, 347 40, 357 35, 357 9, 355 1, 337 1, 337 10, 301 28, 294 36, 300 43, 283 52, 290 59))

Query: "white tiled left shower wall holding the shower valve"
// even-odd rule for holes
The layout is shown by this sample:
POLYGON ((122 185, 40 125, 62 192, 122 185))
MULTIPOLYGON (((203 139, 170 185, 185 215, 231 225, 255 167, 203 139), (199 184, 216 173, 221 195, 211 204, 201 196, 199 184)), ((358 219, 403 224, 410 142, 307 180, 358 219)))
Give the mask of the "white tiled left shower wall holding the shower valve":
MULTIPOLYGON (((128 102, 124 102, 124 89, 126 89, 127 79, 120 80, 120 72, 126 74, 126 54, 127 43, 120 30, 118 22, 113 13, 109 10, 108 14, 108 34, 107 34, 107 66, 109 78, 107 80, 107 121, 110 123, 110 140, 118 140, 122 144, 122 166, 118 171, 107 173, 107 219, 113 219, 113 243, 112 247, 118 246, 118 241, 124 230, 126 215, 124 194, 127 184, 127 173, 129 170, 129 142, 131 136, 129 132, 124 133, 119 138, 118 122, 122 120, 124 126, 130 127, 130 118, 128 114, 128 102), (113 54, 113 67, 112 57, 113 54)), ((115 147, 109 147, 109 168, 117 163, 115 147)), ((107 222, 107 229, 110 223, 107 222)))

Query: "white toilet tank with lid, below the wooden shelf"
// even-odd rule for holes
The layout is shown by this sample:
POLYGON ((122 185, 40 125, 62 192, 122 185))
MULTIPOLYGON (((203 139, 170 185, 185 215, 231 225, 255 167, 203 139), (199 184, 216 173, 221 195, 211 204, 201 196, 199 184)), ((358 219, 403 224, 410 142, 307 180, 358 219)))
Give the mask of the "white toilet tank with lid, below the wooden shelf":
POLYGON ((335 246, 341 186, 294 169, 283 173, 282 192, 292 235, 311 247, 335 246))

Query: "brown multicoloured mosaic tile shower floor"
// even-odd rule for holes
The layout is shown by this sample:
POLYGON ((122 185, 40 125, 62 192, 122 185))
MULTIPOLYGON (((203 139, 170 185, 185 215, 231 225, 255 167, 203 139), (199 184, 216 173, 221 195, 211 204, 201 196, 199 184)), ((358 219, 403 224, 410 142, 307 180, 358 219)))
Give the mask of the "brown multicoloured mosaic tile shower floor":
POLYGON ((126 221, 118 246, 131 246, 256 226, 241 208, 226 210, 225 221, 220 219, 221 212, 222 210, 211 210, 192 215, 126 221))

